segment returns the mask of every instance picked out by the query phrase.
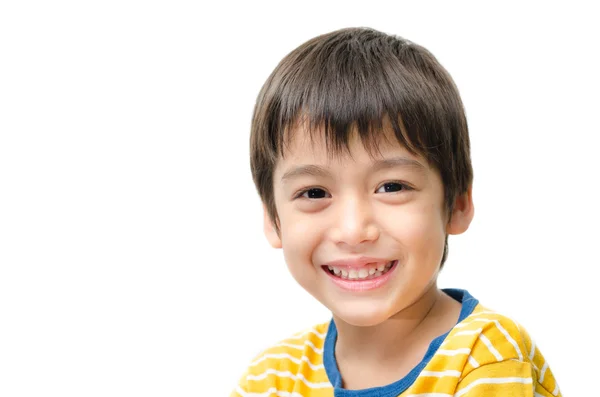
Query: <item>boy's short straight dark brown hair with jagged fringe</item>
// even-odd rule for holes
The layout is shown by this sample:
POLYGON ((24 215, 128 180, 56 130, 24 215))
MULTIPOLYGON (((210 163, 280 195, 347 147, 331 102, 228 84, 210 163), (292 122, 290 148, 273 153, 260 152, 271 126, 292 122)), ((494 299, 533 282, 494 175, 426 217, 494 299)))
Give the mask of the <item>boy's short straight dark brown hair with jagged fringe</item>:
MULTIPOLYGON (((348 28, 315 37, 281 60, 258 94, 250 134, 252 177, 277 230, 273 172, 294 127, 308 122, 311 134, 322 131, 332 155, 348 150, 355 130, 372 153, 384 119, 398 142, 440 172, 450 214, 473 180, 469 134, 458 90, 429 51, 374 29, 348 28)), ((447 245, 446 238, 442 264, 447 245)))

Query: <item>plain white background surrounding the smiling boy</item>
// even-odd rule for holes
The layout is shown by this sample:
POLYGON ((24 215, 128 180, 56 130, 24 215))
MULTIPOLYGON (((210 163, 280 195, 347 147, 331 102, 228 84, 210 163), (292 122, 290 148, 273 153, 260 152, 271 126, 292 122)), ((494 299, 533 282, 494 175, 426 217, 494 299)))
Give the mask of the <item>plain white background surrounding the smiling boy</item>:
POLYGON ((248 136, 279 60, 348 26, 424 45, 461 91, 476 216, 440 285, 520 321, 564 394, 590 395, 598 14, 410 3, 2 2, 0 395, 228 395, 329 318, 262 235, 248 136))

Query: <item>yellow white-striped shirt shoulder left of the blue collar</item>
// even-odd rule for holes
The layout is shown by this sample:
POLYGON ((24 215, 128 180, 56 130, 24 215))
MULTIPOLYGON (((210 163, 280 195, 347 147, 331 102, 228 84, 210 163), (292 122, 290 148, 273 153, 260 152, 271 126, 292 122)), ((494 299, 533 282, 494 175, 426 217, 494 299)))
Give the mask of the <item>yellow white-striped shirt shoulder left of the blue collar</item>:
POLYGON ((307 328, 258 354, 238 387, 238 394, 323 389, 331 387, 323 367, 329 322, 307 328))

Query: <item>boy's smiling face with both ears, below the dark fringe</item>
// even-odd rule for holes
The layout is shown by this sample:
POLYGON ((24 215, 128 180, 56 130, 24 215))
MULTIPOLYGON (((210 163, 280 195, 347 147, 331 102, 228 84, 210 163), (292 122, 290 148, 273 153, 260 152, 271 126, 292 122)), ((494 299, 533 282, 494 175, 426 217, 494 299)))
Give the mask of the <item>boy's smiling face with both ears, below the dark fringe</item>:
POLYGON ((357 326, 387 320, 434 285, 446 234, 473 216, 469 191, 449 222, 439 173, 388 141, 371 158, 354 135, 352 157, 329 160, 324 140, 295 131, 273 178, 279 236, 265 211, 267 238, 296 281, 357 326))

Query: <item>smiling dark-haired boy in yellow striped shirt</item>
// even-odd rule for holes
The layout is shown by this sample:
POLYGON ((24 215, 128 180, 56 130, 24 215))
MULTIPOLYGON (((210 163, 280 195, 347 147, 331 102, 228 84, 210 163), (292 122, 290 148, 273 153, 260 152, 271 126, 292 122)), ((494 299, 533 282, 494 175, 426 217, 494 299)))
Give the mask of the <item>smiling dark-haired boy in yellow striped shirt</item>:
POLYGON ((342 29, 263 86, 251 167, 265 234, 332 320, 259 355, 234 396, 560 396, 517 323, 436 280, 473 218, 467 122, 424 48, 342 29))

